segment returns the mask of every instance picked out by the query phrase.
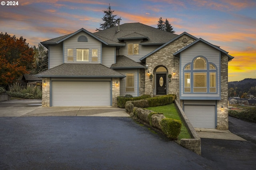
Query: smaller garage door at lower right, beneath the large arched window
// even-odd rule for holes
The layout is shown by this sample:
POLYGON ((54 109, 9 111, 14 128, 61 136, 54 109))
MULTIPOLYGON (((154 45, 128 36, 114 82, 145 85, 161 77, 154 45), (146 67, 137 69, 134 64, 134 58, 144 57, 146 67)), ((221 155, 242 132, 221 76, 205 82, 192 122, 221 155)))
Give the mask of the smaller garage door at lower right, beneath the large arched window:
POLYGON ((195 128, 216 128, 215 106, 184 105, 184 112, 195 128))

